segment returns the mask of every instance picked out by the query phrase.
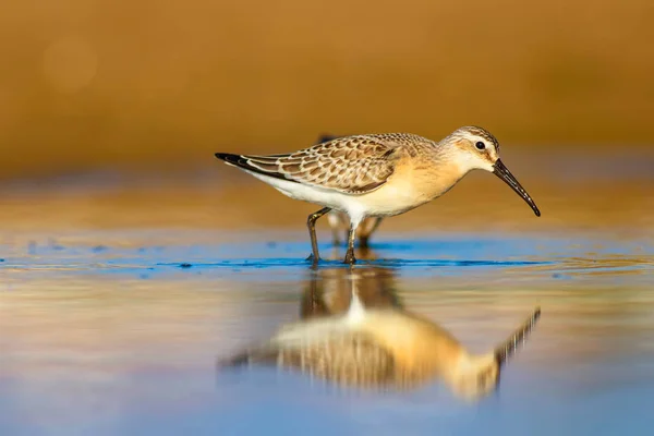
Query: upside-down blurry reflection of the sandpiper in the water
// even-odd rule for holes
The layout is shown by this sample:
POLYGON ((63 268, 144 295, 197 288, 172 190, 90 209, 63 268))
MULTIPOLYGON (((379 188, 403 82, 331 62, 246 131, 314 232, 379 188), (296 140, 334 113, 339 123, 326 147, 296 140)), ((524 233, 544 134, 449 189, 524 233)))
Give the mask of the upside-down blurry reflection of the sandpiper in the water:
POLYGON ((438 324, 405 310, 392 281, 387 268, 314 271, 302 299, 302 319, 219 361, 219 368, 275 365, 367 389, 411 389, 441 379, 457 397, 477 400, 496 389, 502 366, 541 313, 536 308, 494 350, 471 354, 438 324))

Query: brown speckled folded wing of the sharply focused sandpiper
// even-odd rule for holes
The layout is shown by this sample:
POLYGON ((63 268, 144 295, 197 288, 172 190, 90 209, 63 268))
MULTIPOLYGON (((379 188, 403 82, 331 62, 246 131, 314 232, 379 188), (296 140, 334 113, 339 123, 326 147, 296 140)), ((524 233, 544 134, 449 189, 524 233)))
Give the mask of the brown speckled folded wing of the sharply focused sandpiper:
POLYGON ((241 156, 251 170, 348 194, 382 186, 392 174, 393 135, 339 137, 289 155, 241 156))

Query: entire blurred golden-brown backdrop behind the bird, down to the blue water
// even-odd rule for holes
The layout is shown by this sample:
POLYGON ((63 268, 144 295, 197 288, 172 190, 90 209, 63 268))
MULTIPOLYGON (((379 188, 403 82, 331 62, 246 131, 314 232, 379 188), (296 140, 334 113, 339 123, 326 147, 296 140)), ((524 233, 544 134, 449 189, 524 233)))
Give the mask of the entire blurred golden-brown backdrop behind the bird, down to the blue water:
POLYGON ((653 20, 651 0, 10 0, 0 225, 303 231, 314 205, 214 153, 477 124, 543 218, 475 173, 383 229, 650 234, 653 20))

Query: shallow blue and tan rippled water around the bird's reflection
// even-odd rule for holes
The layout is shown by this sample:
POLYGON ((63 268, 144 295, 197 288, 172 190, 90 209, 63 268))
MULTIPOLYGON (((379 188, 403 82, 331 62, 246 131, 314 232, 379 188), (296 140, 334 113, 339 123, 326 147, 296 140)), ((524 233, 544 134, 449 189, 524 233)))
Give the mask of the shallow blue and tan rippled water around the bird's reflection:
MULTIPOLYGON (((217 373, 217 358, 299 318, 315 277, 308 244, 300 232, 155 237, 125 230, 2 245, 0 434, 651 433, 647 243, 380 235, 356 268, 384 270, 403 305, 473 350, 542 307, 499 390, 470 404, 438 380, 373 392, 275 368, 217 373)), ((320 250, 320 271, 346 271, 342 249, 320 250)))

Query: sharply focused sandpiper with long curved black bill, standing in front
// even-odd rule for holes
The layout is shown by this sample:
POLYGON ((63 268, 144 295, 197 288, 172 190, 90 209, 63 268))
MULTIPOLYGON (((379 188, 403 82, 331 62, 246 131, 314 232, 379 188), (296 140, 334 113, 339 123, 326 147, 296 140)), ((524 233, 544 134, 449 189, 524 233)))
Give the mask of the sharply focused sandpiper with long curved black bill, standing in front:
POLYGON ((281 155, 232 155, 218 159, 268 183, 282 194, 323 206, 307 219, 314 264, 315 223, 330 210, 350 219, 344 263, 353 264, 355 230, 366 217, 391 217, 449 191, 468 172, 495 173, 541 216, 536 204, 499 159, 499 143, 477 126, 457 129, 440 142, 410 133, 338 137, 281 155))

